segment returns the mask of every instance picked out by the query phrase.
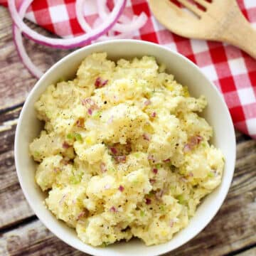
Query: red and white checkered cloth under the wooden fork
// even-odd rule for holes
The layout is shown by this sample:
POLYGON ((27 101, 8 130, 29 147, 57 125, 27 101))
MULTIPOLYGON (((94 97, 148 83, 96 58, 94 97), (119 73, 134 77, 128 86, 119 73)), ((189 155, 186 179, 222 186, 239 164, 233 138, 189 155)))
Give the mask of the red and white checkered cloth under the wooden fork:
MULTIPOLYGON (((6 6, 6 0, 0 0, 0 4, 6 6)), ((108 4, 112 8, 112 1, 108 4)), ((238 4, 255 26, 256 0, 238 0, 238 4)), ((135 32, 134 38, 167 46, 196 63, 222 92, 235 127, 256 139, 256 60, 227 44, 176 36, 156 21, 145 0, 128 0, 124 14, 133 16, 142 11, 148 16, 148 21, 135 32)), ((95 0, 87 0, 85 14, 92 24, 97 18, 95 0)), ((75 0, 35 0, 26 18, 58 36, 78 36, 82 33, 75 18, 75 0)))

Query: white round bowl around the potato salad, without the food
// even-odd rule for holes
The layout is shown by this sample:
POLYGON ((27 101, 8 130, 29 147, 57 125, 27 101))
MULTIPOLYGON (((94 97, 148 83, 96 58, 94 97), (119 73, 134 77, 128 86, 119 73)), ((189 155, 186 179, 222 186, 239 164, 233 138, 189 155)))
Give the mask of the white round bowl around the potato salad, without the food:
POLYGON ((38 80, 31 90, 18 119, 15 137, 15 162, 18 180, 26 196, 28 203, 38 218, 58 238, 68 245, 91 255, 161 255, 176 249, 188 240, 191 240, 210 222, 222 205, 228 193, 235 168, 235 132, 233 122, 225 105, 222 95, 212 82, 206 78, 201 70, 190 60, 175 53, 168 48, 135 40, 107 41, 86 46, 65 56, 50 68, 43 77, 38 80), (57 220, 54 215, 43 205, 45 194, 35 183, 35 163, 28 154, 28 144, 38 136, 41 122, 36 118, 34 103, 51 83, 59 78, 73 78, 81 61, 90 53, 107 52, 108 58, 140 57, 153 55, 159 63, 165 63, 169 73, 175 75, 176 80, 183 85, 188 85, 191 95, 198 97, 205 95, 208 107, 203 112, 203 117, 214 129, 212 143, 223 151, 225 156, 225 170, 220 186, 203 200, 198 207, 196 215, 190 220, 186 228, 178 232, 174 238, 162 245, 146 247, 139 240, 120 242, 110 247, 97 248, 81 242, 75 230, 68 228, 65 223, 57 220))

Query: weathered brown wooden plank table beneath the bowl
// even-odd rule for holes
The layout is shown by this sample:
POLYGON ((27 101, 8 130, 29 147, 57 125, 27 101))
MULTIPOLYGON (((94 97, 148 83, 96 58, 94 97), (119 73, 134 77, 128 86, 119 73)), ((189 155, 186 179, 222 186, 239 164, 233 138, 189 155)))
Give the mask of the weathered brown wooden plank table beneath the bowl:
MULTIPOLYGON (((69 53, 28 41, 26 48, 43 70, 69 53)), ((65 245, 38 220, 16 176, 16 123, 26 93, 35 82, 14 48, 8 11, 0 7, 0 255, 84 255, 65 245)), ((225 203, 203 232, 169 255, 256 255, 256 142, 240 132, 236 137, 235 176, 225 203)))

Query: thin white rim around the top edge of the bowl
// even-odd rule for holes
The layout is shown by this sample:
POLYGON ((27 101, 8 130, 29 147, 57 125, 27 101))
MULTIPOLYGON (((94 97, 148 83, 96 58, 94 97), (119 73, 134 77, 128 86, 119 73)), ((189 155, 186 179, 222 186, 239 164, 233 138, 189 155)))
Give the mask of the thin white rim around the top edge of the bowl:
MULTIPOLYGON (((74 50, 71 53, 68 53, 68 55, 65 55, 65 57, 61 58, 60 60, 58 60, 58 62, 54 63, 48 70, 46 70, 46 73, 44 73, 42 75, 42 77, 33 86, 32 90, 28 93, 28 97, 26 97, 26 100, 25 100, 24 105, 22 107, 21 113, 18 117, 18 123, 17 123, 17 126, 16 126, 15 140, 14 140, 14 158, 15 158, 15 166, 16 166, 16 173, 17 173, 17 176, 18 176, 18 182, 20 183, 20 186, 21 186, 23 194, 26 198, 26 201, 28 202, 29 206, 31 207, 33 212, 38 217, 38 220, 41 220, 43 225, 45 225, 46 228, 48 228, 48 230, 50 230, 51 233, 53 233, 57 238, 59 238, 60 240, 62 240, 66 244, 70 245, 71 247, 75 248, 76 250, 80 250, 82 252, 90 253, 90 254, 95 255, 95 256, 102 256, 102 253, 104 252, 104 250, 97 250, 98 249, 97 247, 92 247, 91 245, 89 245, 90 246, 90 251, 86 250, 86 248, 82 248, 79 245, 75 245, 75 242, 70 242, 70 240, 68 240, 68 238, 63 236, 63 234, 61 234, 60 232, 57 232, 57 231, 53 230, 53 228, 51 228, 51 226, 48 225, 46 219, 43 218, 43 215, 41 215, 40 212, 36 209, 36 206, 35 206, 35 204, 33 203, 33 200, 30 197, 30 193, 26 190, 25 185, 23 184, 23 178, 22 178, 21 171, 20 171, 21 167, 18 164, 18 137, 20 136, 20 133, 21 133, 21 119, 23 119, 23 116, 26 115, 26 109, 27 109, 28 102, 30 102, 33 99, 33 94, 34 94, 34 92, 36 92, 36 90, 38 90, 38 87, 40 87, 41 81, 44 80, 50 73, 52 73, 52 71, 55 68, 57 68, 58 65, 65 62, 65 60, 67 60, 69 58, 73 58, 74 55, 78 55, 80 52, 83 52, 84 50, 93 49, 96 46, 103 46, 103 45, 112 44, 112 43, 134 43, 134 44, 139 43, 139 44, 142 44, 144 46, 154 46, 156 48, 162 48, 164 50, 168 50, 172 54, 176 55, 176 57, 182 58, 183 60, 185 60, 187 63, 189 63, 191 65, 191 68, 195 68, 198 71, 198 73, 201 73, 201 75, 203 75, 204 78, 206 78, 206 80, 208 80, 209 85, 211 87, 213 87, 213 90, 215 90, 215 92, 217 92, 218 97, 220 97, 220 101, 223 103, 223 107, 225 108, 225 112, 227 113, 226 117, 228 118, 228 122, 229 122, 230 128, 231 128, 230 132, 232 133, 231 137, 233 137, 234 147, 233 147, 232 152, 231 152, 232 153, 231 156, 233 156, 233 159, 231 159, 233 166, 231 166, 232 168, 230 168, 230 169, 233 170, 233 172, 232 172, 232 174, 230 174, 230 180, 228 181, 228 184, 227 184, 228 186, 225 187, 225 192, 222 194, 221 200, 218 202, 218 205, 215 206, 215 208, 213 210, 213 213, 205 221, 204 225, 202 225, 200 228, 197 228, 196 231, 194 231, 191 235, 188 236, 188 238, 186 238, 182 242, 179 242, 177 244, 177 246, 174 247, 174 248, 169 249, 168 247, 164 247, 164 249, 159 249, 159 253, 157 255, 163 255, 164 253, 171 252, 171 250, 175 250, 178 247, 181 247, 181 245, 184 245, 186 242, 188 242, 191 239, 193 239, 194 237, 196 237, 196 235, 198 235, 198 233, 201 233, 201 231, 204 228, 206 228, 206 226, 210 223, 210 221, 213 220, 216 213, 218 213, 218 210, 220 210, 220 207, 223 205, 223 201, 225 200, 226 196, 228 195, 228 191, 229 191, 231 182, 233 180, 233 174, 234 174, 234 171, 235 171, 235 159, 236 159, 235 129, 234 129, 233 122, 232 122, 232 119, 231 119, 231 116, 230 116, 230 112, 228 110, 228 106, 226 105, 225 100, 223 99, 223 95, 221 95, 221 93, 218 91, 217 87, 215 85, 213 85, 213 82, 202 72, 202 70, 195 63, 193 63, 191 60, 189 60, 185 56, 181 55, 181 53, 178 53, 174 50, 171 50, 170 48, 167 48, 166 46, 161 46, 159 44, 151 43, 151 42, 148 42, 148 41, 141 41, 141 40, 135 40, 135 39, 117 39, 117 40, 112 40, 112 41, 103 41, 103 42, 100 42, 100 43, 92 43, 89 46, 84 46, 82 48, 74 50)), ((157 58, 157 56, 156 56, 156 58, 157 58)), ((148 256, 154 256, 154 255, 155 254, 150 254, 148 256)))

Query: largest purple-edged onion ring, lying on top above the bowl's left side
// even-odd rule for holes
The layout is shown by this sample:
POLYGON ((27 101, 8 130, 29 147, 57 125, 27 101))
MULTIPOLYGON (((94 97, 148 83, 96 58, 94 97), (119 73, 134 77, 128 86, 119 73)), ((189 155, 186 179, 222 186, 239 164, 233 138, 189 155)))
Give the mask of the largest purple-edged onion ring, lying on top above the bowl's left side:
MULTIPOLYGON (((33 0, 24 0, 23 1, 23 8, 26 10, 28 9, 28 6, 31 5, 33 0)), ((15 6, 15 0, 8 0, 9 5, 9 11, 11 13, 11 18, 13 19, 14 23, 18 28, 21 30, 21 32, 26 35, 28 38, 31 38, 33 41, 36 41, 37 43, 40 43, 45 46, 53 46, 56 48, 75 48, 82 45, 85 45, 86 43, 91 43, 91 41, 96 40, 100 36, 107 33, 107 31, 114 26, 114 23, 117 22, 119 16, 122 14, 122 11, 124 10, 125 4, 127 0, 118 0, 117 3, 114 6, 114 9, 112 10, 110 16, 108 16, 107 19, 105 19, 105 22, 101 24, 98 28, 95 28, 94 30, 90 31, 89 33, 86 33, 82 36, 77 36, 75 38, 49 38, 47 36, 43 36, 40 33, 37 33, 36 31, 33 31, 33 29, 29 28, 26 23, 23 22, 23 17, 25 13, 22 16, 19 16, 16 6, 15 6)))

